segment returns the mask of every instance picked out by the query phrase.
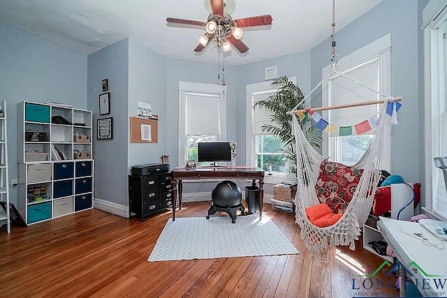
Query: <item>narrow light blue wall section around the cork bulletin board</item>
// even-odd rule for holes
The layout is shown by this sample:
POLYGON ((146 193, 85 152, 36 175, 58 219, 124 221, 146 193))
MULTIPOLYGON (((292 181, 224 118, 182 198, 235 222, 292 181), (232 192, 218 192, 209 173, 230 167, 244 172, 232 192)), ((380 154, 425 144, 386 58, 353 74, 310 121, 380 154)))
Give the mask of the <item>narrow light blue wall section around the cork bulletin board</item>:
POLYGON ((152 113, 159 115, 159 142, 129 142, 129 174, 132 165, 161 163, 160 157, 168 155, 166 131, 172 121, 166 112, 166 58, 129 38, 129 117, 137 116, 138 101, 149 103, 152 113))

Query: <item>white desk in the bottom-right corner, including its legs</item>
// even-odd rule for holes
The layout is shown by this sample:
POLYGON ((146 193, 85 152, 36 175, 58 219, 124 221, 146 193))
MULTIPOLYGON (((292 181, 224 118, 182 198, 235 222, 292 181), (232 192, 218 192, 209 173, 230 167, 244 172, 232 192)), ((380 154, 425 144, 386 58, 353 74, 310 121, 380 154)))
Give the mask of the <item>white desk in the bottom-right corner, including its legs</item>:
MULTIPOLYGON (((444 241, 444 249, 427 246, 423 241, 409 234, 421 233, 430 243, 439 244, 440 248, 442 247, 441 240, 434 237, 420 223, 383 217, 380 219, 377 227, 383 239, 393 248, 397 260, 411 271, 413 276, 409 277, 421 294, 424 297, 447 297, 447 241, 444 241), (439 282, 444 283, 444 286, 439 285, 439 282)), ((404 297, 406 271, 402 266, 400 272, 400 296, 404 297)))

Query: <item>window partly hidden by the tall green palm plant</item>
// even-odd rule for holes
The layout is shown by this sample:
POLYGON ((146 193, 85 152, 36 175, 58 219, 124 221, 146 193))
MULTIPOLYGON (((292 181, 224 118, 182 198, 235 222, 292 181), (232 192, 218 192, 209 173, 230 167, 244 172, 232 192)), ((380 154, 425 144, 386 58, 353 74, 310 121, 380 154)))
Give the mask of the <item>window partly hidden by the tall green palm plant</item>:
MULTIPOLYGON (((295 83, 296 77, 290 80, 295 83)), ((289 165, 283 153, 284 144, 276 136, 261 130, 261 126, 270 122, 270 114, 260 108, 254 110, 253 105, 276 91, 272 89, 271 82, 247 85, 247 165, 267 171, 266 181, 270 182, 271 177, 279 177, 282 179, 279 181, 283 181, 288 176, 289 165)))

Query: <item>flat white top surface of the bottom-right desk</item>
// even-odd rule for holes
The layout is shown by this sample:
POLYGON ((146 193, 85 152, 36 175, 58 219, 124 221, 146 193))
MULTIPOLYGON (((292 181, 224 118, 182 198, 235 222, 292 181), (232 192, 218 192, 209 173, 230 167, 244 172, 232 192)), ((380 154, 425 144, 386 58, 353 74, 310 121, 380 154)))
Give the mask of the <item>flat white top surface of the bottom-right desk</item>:
MULTIPOLYGON (((409 256, 411 261, 416 262, 425 273, 430 275, 447 276, 447 241, 437 239, 430 231, 426 230, 420 223, 412 223, 410 221, 397 221, 395 219, 379 216, 389 237, 393 237, 399 244, 402 251, 409 256), (427 238, 430 243, 437 244, 444 249, 434 246, 427 246, 409 234, 420 233, 427 238)), ((415 235, 416 236, 416 235, 415 235)))

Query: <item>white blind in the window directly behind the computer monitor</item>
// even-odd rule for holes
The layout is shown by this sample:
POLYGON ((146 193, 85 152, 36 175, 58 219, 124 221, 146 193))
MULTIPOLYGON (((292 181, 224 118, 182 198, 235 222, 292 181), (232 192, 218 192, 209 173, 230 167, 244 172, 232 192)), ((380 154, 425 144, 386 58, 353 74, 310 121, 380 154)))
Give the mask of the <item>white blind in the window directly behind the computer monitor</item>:
POLYGON ((186 134, 219 135, 219 96, 186 93, 186 134))

